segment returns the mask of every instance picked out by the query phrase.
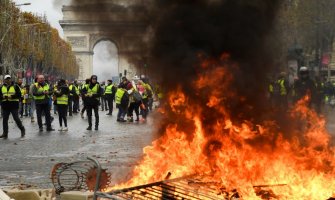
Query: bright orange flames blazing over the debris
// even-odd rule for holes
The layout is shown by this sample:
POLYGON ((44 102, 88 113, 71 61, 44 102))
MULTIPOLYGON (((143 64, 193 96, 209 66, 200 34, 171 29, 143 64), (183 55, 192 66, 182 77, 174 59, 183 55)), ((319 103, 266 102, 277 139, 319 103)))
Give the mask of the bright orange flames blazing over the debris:
MULTIPOLYGON (((229 56, 222 59, 229 60, 229 56)), ((229 89, 233 76, 225 66, 228 63, 205 61, 200 65, 205 71, 199 73, 192 89, 194 96, 206 99, 205 104, 188 97, 182 87, 167 95, 169 106, 164 113, 175 120, 144 148, 133 178, 114 188, 164 180, 171 173, 171 178, 209 177, 227 191, 237 190, 243 199, 262 199, 264 191, 271 199, 333 196, 334 148, 325 119, 308 108, 308 96, 289 112, 297 121, 290 134, 279 131, 275 121, 237 123, 229 116, 226 103, 232 98, 243 102, 244 97, 229 89), (214 116, 209 118, 210 126, 206 114, 214 116)))

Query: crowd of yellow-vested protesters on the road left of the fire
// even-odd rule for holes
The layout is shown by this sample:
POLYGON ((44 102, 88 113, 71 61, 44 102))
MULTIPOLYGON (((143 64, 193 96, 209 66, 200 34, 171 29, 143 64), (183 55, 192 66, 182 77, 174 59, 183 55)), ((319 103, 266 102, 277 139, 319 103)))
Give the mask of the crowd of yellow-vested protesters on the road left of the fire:
POLYGON ((21 137, 25 136, 25 128, 20 117, 30 117, 34 123, 35 112, 40 132, 44 131, 44 125, 46 131, 55 131, 52 127, 54 117, 51 111, 54 116, 58 115, 58 131, 69 130, 68 116, 80 113, 84 118, 85 112, 88 119, 86 130, 93 128, 93 112, 94 130, 99 130, 99 111, 107 111, 107 116, 113 115, 114 102, 118 109, 117 122, 145 122, 153 110, 154 99, 160 102, 162 98, 163 93, 158 87, 154 88, 146 78, 128 80, 122 77, 118 84, 112 80, 107 80, 106 84, 104 81, 99 83, 98 77, 92 75, 83 83, 60 79, 52 84, 43 75, 39 75, 33 84, 23 85, 22 79, 14 82, 10 75, 6 75, 0 89, 3 117, 3 134, 0 138, 8 138, 10 114, 21 130, 21 137))

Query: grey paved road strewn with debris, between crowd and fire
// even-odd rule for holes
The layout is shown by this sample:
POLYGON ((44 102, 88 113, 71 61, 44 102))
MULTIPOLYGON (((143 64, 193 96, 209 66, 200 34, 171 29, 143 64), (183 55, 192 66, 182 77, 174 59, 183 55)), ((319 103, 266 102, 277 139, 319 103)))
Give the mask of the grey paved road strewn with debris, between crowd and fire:
MULTIPOLYGON (((38 132, 37 123, 23 118, 26 137, 11 119, 9 138, 0 139, 0 186, 18 183, 51 187, 49 174, 58 162, 85 160, 95 157, 112 171, 115 182, 125 178, 142 155, 142 149, 153 140, 152 117, 146 123, 119 123, 113 116, 100 112, 99 131, 87 131, 87 119, 80 115, 68 117, 68 132, 57 131, 55 116, 53 132, 38 132)), ((2 125, 2 123, 1 123, 2 125)), ((2 126, 0 127, 2 132, 2 126)))

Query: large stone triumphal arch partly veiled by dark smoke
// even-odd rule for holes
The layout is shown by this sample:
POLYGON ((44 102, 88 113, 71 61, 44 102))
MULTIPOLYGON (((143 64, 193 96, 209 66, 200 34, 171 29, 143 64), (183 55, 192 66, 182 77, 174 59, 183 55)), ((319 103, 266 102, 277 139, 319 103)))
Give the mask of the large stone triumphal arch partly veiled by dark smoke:
POLYGON ((127 6, 122 5, 127 0, 102 1, 106 6, 103 12, 90 0, 62 8, 60 25, 77 57, 78 79, 85 80, 92 75, 94 46, 104 40, 113 42, 118 49, 119 74, 124 75, 126 70, 129 78, 140 75, 134 63, 140 63, 145 57, 142 41, 147 29, 145 4, 141 0, 131 0, 127 6))

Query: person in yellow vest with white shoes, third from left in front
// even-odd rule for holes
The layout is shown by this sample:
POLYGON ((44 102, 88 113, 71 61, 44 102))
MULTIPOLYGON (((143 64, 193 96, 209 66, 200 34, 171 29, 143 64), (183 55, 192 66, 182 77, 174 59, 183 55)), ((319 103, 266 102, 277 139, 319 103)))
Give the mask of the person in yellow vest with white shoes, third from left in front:
POLYGON ((68 131, 67 128, 67 107, 68 107, 68 98, 69 98, 69 87, 66 85, 64 79, 60 79, 57 83, 57 89, 54 92, 56 96, 57 112, 59 119, 59 129, 58 131, 68 131), (63 128, 64 122, 64 128, 63 128))

